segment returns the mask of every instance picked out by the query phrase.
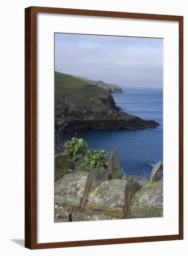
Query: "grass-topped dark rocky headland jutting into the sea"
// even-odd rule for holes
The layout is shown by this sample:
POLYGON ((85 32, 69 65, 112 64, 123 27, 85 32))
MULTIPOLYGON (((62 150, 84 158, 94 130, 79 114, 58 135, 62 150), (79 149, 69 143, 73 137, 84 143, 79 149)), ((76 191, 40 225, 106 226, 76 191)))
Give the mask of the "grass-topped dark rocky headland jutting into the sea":
POLYGON ((55 73, 55 127, 63 121, 63 132, 79 130, 138 130, 156 128, 121 111, 104 89, 69 75, 55 73))

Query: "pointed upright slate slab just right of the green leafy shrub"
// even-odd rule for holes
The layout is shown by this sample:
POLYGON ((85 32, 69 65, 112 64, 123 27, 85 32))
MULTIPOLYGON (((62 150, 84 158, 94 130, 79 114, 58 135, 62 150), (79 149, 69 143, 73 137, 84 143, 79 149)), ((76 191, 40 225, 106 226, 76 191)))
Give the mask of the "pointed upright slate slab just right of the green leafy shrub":
POLYGON ((113 152, 108 161, 109 179, 121 179, 123 170, 115 152, 113 152))

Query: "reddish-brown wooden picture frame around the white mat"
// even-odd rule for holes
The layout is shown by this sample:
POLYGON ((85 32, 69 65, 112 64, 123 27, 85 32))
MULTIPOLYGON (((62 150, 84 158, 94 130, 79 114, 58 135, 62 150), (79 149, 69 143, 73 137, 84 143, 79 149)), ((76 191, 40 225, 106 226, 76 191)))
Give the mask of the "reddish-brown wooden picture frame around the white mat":
POLYGON ((183 16, 51 7, 25 9, 25 247, 45 249, 183 239, 183 16), (58 13, 179 22, 179 234, 37 243, 37 13, 58 13))

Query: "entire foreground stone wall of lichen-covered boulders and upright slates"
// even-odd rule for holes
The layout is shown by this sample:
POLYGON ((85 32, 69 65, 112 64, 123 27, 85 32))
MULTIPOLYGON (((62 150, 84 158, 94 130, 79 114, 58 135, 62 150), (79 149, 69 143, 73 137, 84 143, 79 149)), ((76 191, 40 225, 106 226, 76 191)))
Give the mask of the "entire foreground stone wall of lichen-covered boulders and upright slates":
POLYGON ((115 152, 108 170, 89 173, 75 171, 66 153, 56 158, 55 222, 162 217, 162 162, 153 167, 149 181, 140 182, 123 176, 115 152))

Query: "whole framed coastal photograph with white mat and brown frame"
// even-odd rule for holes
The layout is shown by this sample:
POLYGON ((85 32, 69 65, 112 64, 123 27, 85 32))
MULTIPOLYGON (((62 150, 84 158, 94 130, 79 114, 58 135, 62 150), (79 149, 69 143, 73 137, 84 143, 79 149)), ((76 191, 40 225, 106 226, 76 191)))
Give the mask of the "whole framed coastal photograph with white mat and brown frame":
POLYGON ((25 9, 25 246, 183 239, 183 17, 25 9))

